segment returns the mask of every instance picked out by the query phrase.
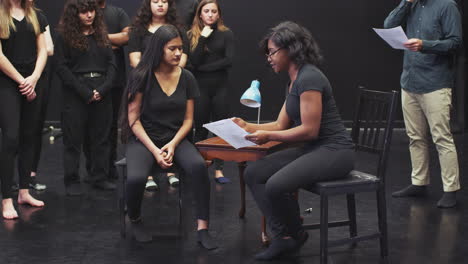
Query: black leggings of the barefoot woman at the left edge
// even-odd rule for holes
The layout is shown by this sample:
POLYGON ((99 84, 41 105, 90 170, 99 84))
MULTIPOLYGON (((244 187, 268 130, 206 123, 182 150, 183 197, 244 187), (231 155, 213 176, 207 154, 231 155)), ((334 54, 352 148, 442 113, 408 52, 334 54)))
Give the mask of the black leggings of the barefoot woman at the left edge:
MULTIPOLYGON (((36 84, 38 93, 44 89, 44 84, 44 79, 40 78, 36 84)), ((39 103, 36 100, 28 102, 20 94, 18 84, 0 73, 0 179, 3 199, 12 197, 11 185, 17 154, 20 189, 29 188, 35 137, 40 131, 40 114, 36 111, 39 103)))

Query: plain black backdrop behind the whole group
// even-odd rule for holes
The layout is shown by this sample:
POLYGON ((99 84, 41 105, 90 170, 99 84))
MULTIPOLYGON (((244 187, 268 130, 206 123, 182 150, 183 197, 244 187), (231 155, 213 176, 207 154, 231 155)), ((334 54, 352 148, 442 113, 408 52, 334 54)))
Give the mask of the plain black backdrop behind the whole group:
MULTIPOLYGON (((45 11, 51 27, 60 17, 65 1, 37 1, 45 11)), ((124 8, 132 17, 139 0, 108 0, 124 8)), ((310 29, 325 55, 324 71, 330 79, 337 104, 345 120, 354 112, 355 92, 359 85, 370 89, 399 90, 402 52, 388 47, 372 31, 382 27, 387 14, 400 0, 220 0, 224 20, 236 36, 236 56, 231 73, 229 101, 232 114, 249 120, 256 119, 256 109, 239 103, 239 98, 250 82, 261 81, 262 120, 276 118, 285 94, 286 76, 276 76, 265 65, 265 56, 258 49, 258 41, 269 27, 293 20, 310 29)), ((468 7, 460 2, 462 9, 468 7)), ((468 12, 465 12, 468 13, 468 12)), ((467 18, 464 17, 466 24, 467 18)), ((465 27, 466 32, 466 27, 465 27)), ((466 36, 467 34, 465 34, 466 36)), ((464 61, 463 61, 464 64, 464 61)), ((464 80, 466 71, 460 75, 464 80)), ((458 91, 463 91, 459 81, 458 91)), ((60 85, 54 82, 53 97, 49 105, 48 120, 59 120, 60 85)), ((458 93, 456 93, 458 94, 458 93)), ((461 111, 459 124, 463 124, 465 94, 461 93, 456 107, 461 111)))

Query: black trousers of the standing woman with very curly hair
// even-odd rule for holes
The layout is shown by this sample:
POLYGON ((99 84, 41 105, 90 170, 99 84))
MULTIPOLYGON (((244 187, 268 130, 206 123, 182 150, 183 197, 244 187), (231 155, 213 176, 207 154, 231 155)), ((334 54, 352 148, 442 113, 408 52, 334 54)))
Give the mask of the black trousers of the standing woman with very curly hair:
MULTIPOLYGON (((87 83, 97 87, 103 81, 104 77, 99 77, 88 79, 87 83)), ((106 180, 109 173, 109 134, 112 125, 111 97, 105 96, 99 102, 88 104, 70 87, 64 88, 63 97, 65 186, 80 181, 80 157, 85 138, 89 139, 91 179, 94 182, 106 180)))

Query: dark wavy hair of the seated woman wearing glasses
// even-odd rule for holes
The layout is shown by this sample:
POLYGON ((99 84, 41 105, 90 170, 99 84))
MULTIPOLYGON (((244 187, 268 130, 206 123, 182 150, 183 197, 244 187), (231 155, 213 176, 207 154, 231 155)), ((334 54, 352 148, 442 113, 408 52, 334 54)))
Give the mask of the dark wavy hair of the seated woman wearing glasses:
POLYGON ((289 58, 298 67, 306 63, 320 68, 323 55, 320 47, 310 31, 292 21, 285 21, 271 28, 260 41, 260 48, 268 53, 268 40, 279 48, 288 51, 289 58))

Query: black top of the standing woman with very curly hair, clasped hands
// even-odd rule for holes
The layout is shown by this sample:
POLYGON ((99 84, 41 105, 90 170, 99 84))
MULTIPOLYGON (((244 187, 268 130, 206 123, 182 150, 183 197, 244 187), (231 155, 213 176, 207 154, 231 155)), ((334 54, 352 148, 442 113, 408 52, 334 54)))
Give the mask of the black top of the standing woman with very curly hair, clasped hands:
POLYGON ((110 47, 99 47, 94 35, 87 36, 89 48, 80 51, 68 46, 63 37, 58 34, 56 39, 57 73, 65 87, 71 87, 85 102, 93 96, 93 88, 80 82, 77 75, 89 72, 98 72, 106 76, 106 81, 95 88, 101 96, 106 96, 112 87, 115 78, 115 61, 110 47))

